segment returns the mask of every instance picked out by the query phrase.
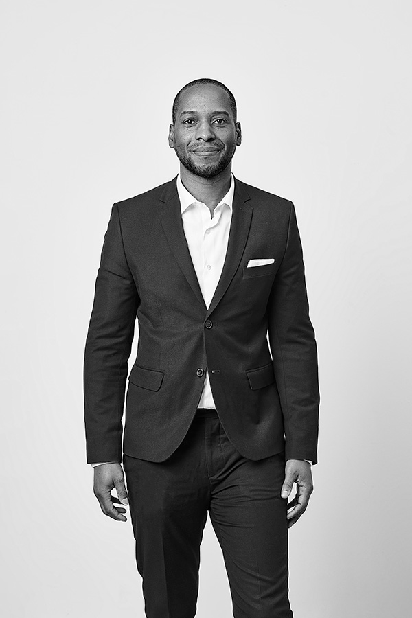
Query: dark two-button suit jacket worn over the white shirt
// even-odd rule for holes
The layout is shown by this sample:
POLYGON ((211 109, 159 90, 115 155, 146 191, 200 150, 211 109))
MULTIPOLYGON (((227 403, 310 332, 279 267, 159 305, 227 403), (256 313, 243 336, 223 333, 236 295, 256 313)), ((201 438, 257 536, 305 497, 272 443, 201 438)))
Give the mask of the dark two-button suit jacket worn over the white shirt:
POLYGON ((290 201, 236 180, 229 244, 209 309, 172 180, 113 205, 84 361, 87 460, 163 461, 193 420, 208 369, 229 440, 249 459, 317 461, 317 352, 290 201), (247 268, 253 258, 274 264, 247 268), (267 333, 269 335, 270 349, 267 333))

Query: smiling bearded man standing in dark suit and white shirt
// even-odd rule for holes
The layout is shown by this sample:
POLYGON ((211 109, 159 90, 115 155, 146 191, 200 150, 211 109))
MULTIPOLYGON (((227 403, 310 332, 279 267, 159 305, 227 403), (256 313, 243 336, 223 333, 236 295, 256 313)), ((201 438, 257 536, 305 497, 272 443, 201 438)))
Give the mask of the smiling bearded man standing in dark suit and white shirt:
POLYGON ((287 534, 317 460, 316 344, 293 204, 233 178, 241 139, 224 84, 183 87, 169 132, 180 174, 113 206, 96 281, 87 456, 103 512, 124 521, 115 504, 130 501, 149 618, 194 617, 208 512, 233 615, 292 616, 287 534))

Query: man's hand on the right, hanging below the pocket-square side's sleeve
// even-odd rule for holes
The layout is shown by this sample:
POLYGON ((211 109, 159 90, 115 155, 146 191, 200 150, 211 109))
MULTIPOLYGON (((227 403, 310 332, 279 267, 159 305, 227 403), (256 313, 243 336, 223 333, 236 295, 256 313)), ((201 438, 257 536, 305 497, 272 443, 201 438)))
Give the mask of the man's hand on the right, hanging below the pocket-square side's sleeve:
POLYGON ((288 528, 292 527, 306 511, 310 494, 313 491, 312 470, 308 461, 288 459, 285 466, 285 480, 282 485, 282 498, 288 499, 293 483, 296 483, 296 495, 288 503, 288 528))

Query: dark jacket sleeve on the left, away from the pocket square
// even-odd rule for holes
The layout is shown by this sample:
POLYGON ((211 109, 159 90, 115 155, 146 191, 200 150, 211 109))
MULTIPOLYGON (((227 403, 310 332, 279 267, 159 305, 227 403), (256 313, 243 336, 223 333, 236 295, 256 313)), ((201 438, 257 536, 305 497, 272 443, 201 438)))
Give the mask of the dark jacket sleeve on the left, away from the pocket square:
POLYGON ((87 461, 122 461, 122 415, 139 297, 113 205, 84 352, 87 461))

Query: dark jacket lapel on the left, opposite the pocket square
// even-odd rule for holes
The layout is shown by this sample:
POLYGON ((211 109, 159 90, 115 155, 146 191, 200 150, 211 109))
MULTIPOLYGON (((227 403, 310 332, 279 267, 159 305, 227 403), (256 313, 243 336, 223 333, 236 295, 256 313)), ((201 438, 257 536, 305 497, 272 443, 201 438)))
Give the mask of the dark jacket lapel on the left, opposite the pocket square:
POLYGON ((183 275, 194 291, 196 298, 206 310, 205 301, 199 287, 196 271, 194 270, 192 258, 183 231, 181 216, 181 204, 176 189, 176 179, 168 183, 161 196, 161 203, 157 208, 163 226, 163 231, 168 239, 170 249, 176 258, 183 275))

